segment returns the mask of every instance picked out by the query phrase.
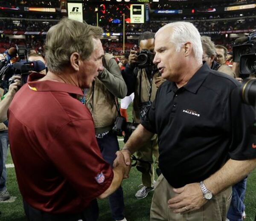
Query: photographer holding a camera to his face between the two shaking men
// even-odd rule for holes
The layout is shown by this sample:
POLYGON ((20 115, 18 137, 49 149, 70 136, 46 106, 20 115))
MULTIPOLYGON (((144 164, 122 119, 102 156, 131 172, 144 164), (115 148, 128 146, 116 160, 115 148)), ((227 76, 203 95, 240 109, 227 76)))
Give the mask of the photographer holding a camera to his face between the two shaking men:
MULTIPOLYGON (((139 53, 131 50, 128 65, 122 75, 128 85, 128 95, 134 92, 134 123, 140 123, 141 119, 144 118, 145 112, 155 99, 157 88, 163 83, 163 78, 153 64, 154 33, 143 32, 139 37, 139 48, 139 53)), ((158 164, 157 135, 137 151, 137 158, 139 159, 137 169, 142 173, 143 184, 143 187, 135 194, 137 199, 145 198, 148 192, 154 190, 153 155, 156 158, 155 163, 158 164)))

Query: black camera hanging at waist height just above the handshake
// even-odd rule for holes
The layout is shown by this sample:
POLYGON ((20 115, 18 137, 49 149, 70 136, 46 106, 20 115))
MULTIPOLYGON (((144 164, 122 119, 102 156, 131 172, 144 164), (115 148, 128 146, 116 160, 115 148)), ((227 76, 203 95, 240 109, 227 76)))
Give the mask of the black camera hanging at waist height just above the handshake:
POLYGON ((122 137, 122 132, 124 131, 125 136, 130 137, 131 133, 134 132, 134 130, 138 125, 139 125, 138 123, 126 122, 123 116, 118 116, 112 128, 112 131, 115 135, 119 137, 122 137))

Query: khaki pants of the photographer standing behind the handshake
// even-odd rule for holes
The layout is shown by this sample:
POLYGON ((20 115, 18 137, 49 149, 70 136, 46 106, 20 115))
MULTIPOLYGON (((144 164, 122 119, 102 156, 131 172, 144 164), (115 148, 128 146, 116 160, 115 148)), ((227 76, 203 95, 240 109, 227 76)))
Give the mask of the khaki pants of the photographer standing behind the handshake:
POLYGON ((142 184, 145 187, 151 187, 154 184, 154 160, 153 155, 156 158, 155 163, 158 166, 158 145, 157 135, 154 135, 150 141, 148 141, 139 151, 137 151, 137 158, 143 161, 147 161, 150 164, 137 161, 137 169, 142 172, 142 184), (139 169, 140 168, 140 169, 139 169))

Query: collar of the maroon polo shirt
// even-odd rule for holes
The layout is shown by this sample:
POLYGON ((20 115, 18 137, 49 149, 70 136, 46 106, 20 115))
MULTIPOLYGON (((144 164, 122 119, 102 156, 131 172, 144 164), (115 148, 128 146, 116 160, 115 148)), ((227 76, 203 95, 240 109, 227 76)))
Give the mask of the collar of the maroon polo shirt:
POLYGON ((67 92, 69 94, 76 94, 83 96, 83 92, 81 88, 78 86, 68 84, 68 83, 61 83, 52 80, 40 80, 45 75, 39 73, 32 73, 28 77, 28 86, 33 91, 59 91, 59 92, 67 92))

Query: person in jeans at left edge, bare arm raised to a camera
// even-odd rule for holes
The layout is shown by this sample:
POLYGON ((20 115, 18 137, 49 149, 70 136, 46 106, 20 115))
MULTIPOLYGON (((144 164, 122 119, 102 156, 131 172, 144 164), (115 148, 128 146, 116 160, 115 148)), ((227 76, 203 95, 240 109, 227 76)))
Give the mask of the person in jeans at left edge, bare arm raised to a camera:
MULTIPOLYGON (((17 90, 21 86, 20 76, 13 76, 14 83, 10 84, 9 91, 2 97, 2 93, 0 94, 2 100, 0 101, 0 122, 4 122, 7 120, 7 110, 9 105, 14 98, 17 90)), ((7 180, 7 171, 6 171, 6 157, 7 157, 7 149, 9 145, 8 140, 8 127, 4 123, 0 123, 0 151, 2 152, 2 158, 0 159, 0 166, 2 165, 3 172, 0 173, 0 201, 5 201, 10 198, 10 194, 6 188, 6 180, 7 180)))

